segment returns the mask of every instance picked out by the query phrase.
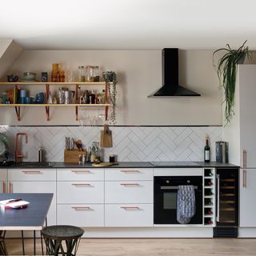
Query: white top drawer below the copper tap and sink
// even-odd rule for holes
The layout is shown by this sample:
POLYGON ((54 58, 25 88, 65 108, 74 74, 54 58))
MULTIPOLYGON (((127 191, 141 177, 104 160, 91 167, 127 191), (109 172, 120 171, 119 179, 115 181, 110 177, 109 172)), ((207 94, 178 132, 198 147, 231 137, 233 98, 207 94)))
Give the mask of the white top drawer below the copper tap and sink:
POLYGON ((9 169, 8 170, 9 181, 56 181, 56 169, 9 169))

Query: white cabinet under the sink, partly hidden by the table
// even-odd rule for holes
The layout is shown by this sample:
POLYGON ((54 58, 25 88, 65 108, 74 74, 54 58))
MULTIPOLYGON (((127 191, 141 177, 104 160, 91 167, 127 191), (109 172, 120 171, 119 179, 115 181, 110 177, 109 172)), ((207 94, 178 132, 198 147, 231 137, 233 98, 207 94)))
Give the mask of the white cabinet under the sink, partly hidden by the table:
POLYGON ((53 193, 53 201, 47 214, 48 225, 56 225, 56 170, 55 169, 9 169, 8 191, 10 193, 53 193), (22 172, 29 171, 29 172, 22 172), (17 171, 17 175, 15 172, 17 171))

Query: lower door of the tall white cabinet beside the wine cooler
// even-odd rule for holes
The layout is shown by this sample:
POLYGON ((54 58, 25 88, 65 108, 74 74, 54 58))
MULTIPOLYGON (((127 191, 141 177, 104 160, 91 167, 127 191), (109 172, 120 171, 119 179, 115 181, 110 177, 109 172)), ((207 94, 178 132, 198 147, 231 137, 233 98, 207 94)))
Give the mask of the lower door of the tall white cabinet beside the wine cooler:
POLYGON ((240 170, 240 226, 256 227, 256 169, 240 170))

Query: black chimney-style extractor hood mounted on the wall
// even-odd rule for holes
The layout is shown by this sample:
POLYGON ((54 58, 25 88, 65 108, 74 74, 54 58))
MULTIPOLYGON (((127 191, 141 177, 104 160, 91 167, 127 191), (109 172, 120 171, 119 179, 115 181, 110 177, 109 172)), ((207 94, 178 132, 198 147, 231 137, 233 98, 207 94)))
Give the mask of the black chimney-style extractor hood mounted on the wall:
POLYGON ((178 48, 162 49, 162 87, 148 98, 173 96, 201 96, 193 90, 178 85, 178 48))

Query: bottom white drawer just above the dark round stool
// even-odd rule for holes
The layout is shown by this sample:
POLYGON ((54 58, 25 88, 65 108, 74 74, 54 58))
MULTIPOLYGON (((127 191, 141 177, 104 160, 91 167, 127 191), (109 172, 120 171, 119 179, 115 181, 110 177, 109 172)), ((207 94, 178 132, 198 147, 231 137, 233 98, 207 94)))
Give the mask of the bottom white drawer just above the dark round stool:
POLYGON ((58 205, 58 225, 104 226, 104 205, 58 205))

